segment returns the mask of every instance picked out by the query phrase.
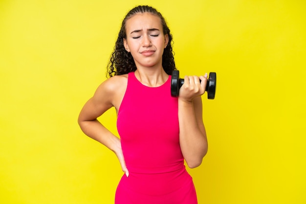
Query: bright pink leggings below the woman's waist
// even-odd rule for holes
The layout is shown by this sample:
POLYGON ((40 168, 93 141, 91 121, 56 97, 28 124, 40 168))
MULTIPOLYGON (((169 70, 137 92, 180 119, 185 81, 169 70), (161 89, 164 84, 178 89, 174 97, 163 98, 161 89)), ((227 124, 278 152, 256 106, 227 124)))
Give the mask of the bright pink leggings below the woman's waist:
POLYGON ((115 204, 197 204, 197 194, 185 169, 157 174, 130 172, 118 184, 115 204))

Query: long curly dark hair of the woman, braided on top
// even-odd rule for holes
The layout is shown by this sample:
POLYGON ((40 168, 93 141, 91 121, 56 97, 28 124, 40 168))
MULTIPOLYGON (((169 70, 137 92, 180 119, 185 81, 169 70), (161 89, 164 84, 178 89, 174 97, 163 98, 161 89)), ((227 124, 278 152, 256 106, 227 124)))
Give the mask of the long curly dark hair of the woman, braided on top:
POLYGON ((148 5, 143 6, 136 6, 131 11, 128 12, 124 20, 122 21, 122 25, 119 31, 118 39, 116 41, 114 51, 111 54, 109 63, 108 63, 108 72, 107 75, 109 77, 115 76, 115 75, 122 75, 127 74, 130 72, 133 72, 137 69, 134 59, 130 52, 126 51, 123 39, 127 37, 126 35, 126 22, 129 20, 132 16, 134 16, 137 13, 151 13, 153 15, 156 15, 160 18, 161 24, 163 27, 163 34, 168 34, 169 37, 169 43, 167 47, 164 49, 164 53, 162 56, 162 67, 165 70, 165 72, 168 75, 171 75, 172 71, 175 70, 175 61, 174 61, 174 52, 172 50, 172 44, 173 44, 173 38, 170 34, 170 29, 167 26, 167 23, 163 16, 153 7, 148 5))

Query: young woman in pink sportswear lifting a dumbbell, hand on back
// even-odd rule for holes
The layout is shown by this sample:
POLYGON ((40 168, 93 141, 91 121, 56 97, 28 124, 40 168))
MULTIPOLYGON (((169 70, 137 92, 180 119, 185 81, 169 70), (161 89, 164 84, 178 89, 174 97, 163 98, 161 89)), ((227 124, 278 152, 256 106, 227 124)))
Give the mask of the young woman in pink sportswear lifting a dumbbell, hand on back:
POLYGON ((184 160, 195 168, 207 152, 201 101, 207 74, 185 76, 175 98, 174 69, 172 35, 162 15, 150 6, 131 9, 109 62, 110 78, 78 119, 87 136, 116 154, 125 172, 115 204, 197 204, 184 160), (97 120, 111 107, 120 139, 97 120))

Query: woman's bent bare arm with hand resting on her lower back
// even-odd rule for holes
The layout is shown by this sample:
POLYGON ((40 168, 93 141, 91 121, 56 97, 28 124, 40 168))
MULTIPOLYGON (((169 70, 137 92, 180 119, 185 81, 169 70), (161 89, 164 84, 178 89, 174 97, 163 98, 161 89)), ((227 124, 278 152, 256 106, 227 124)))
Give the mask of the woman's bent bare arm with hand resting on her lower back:
POLYGON ((82 131, 88 137, 104 144, 116 154, 121 164, 122 170, 128 176, 129 172, 124 161, 120 139, 112 134, 103 124, 97 120, 99 116, 114 106, 114 103, 118 103, 118 98, 120 99, 120 96, 118 97, 118 93, 120 93, 120 87, 117 87, 118 85, 120 85, 120 83, 118 83, 118 78, 116 79, 116 77, 112 77, 103 82, 97 88, 93 97, 90 98, 83 106, 79 114, 78 123, 82 131))

